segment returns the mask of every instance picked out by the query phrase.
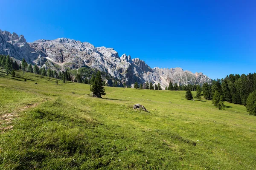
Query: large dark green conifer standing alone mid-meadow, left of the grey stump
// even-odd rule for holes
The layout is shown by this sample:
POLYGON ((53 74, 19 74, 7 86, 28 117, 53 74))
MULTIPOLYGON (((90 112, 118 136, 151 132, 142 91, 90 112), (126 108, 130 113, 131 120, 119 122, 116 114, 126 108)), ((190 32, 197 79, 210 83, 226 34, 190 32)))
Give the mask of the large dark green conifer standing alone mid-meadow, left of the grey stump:
POLYGON ((102 82, 103 80, 101 78, 100 71, 98 71, 90 87, 90 91, 92 91, 93 95, 95 95, 96 97, 101 97, 101 95, 106 95, 105 88, 103 87, 102 82))

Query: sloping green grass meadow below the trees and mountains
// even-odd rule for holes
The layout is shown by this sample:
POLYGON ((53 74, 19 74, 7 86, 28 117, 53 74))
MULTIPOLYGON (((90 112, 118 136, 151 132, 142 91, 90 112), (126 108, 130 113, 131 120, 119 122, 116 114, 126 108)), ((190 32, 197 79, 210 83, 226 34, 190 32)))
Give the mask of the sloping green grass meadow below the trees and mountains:
POLYGON ((89 85, 16 75, 0 73, 1 170, 256 169, 256 116, 243 105, 113 87, 98 99, 89 85))

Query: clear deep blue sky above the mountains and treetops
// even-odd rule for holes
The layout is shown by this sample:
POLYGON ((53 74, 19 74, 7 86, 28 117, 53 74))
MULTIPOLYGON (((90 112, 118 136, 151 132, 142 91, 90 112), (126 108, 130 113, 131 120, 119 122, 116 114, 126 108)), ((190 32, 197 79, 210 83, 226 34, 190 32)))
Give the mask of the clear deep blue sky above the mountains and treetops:
POLYGON ((255 0, 0 0, 0 29, 114 48, 212 79, 256 72, 255 0))

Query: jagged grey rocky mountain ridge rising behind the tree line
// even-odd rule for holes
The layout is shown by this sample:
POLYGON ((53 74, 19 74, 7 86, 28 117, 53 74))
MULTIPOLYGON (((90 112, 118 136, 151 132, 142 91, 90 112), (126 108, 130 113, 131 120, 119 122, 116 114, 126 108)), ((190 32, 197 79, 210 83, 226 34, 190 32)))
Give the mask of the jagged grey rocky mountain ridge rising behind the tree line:
POLYGON ((193 74, 182 68, 150 68, 139 58, 131 59, 126 54, 119 57, 113 48, 94 47, 89 42, 67 38, 26 42, 23 35, 19 37, 15 33, 0 30, 0 54, 10 55, 17 60, 25 58, 29 63, 60 70, 89 66, 105 71, 127 85, 148 81, 160 83, 165 88, 170 81, 178 85, 211 82, 202 73, 193 74))

